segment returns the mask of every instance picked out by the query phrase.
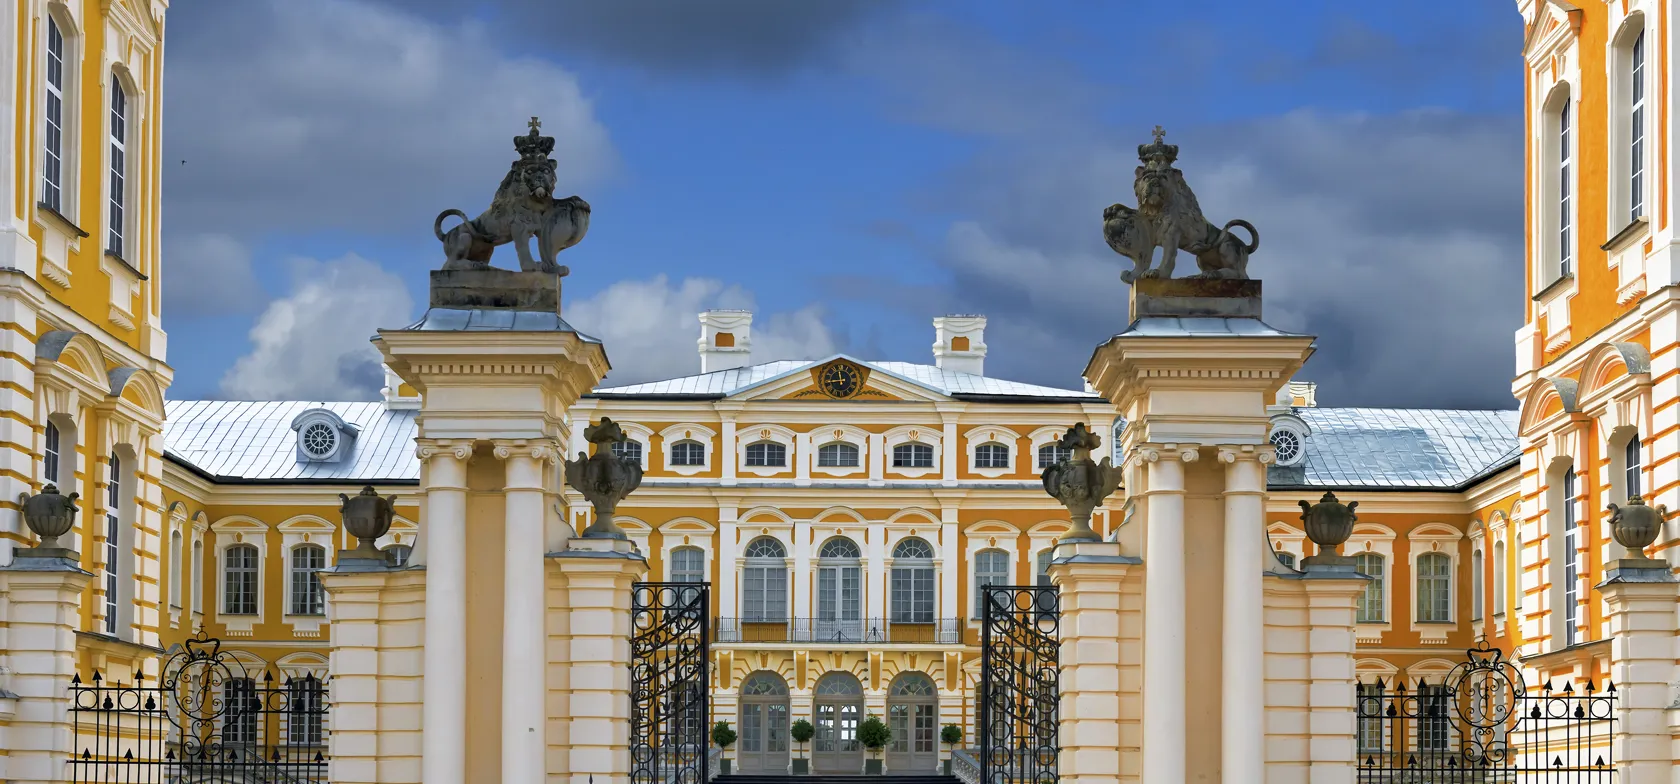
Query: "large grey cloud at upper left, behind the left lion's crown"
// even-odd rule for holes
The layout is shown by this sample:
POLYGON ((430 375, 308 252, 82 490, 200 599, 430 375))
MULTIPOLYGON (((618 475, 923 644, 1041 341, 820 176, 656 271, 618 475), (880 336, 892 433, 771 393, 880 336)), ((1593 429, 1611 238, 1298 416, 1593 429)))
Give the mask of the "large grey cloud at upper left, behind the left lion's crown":
POLYGON ((173 225, 430 237, 440 210, 489 205, 531 116, 563 195, 613 166, 578 79, 484 25, 363 0, 200 5, 170 29, 173 225))

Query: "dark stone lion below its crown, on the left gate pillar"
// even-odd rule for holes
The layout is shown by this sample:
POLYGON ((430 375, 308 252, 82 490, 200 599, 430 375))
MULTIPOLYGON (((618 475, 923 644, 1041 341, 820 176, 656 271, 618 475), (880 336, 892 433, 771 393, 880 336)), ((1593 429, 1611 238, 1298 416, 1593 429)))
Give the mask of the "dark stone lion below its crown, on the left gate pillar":
POLYGON ((590 203, 578 196, 551 198, 554 191, 553 159, 516 161, 496 188, 491 208, 477 218, 467 218, 460 210, 444 210, 432 222, 432 233, 444 243, 444 269, 487 269, 491 252, 497 245, 512 243, 524 272, 568 270, 554 264, 554 257, 580 240, 590 230, 590 203), (460 223, 444 232, 450 215, 460 223), (531 255, 531 238, 538 252, 531 255))

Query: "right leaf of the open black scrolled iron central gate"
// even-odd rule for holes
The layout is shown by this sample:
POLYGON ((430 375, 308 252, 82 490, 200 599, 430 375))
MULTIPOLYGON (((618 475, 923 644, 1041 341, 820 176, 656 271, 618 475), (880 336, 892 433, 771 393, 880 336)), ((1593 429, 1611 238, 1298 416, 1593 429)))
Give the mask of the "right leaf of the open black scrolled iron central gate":
POLYGON ((979 781, 1055 784, 1060 619, 1053 586, 986 586, 979 641, 979 781))

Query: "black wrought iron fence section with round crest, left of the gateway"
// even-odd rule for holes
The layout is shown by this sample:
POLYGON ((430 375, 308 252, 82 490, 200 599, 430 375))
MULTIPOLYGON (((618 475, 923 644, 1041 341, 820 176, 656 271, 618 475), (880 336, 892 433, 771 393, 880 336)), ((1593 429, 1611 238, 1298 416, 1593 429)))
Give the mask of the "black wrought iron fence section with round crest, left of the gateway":
POLYGON ((155 682, 71 682, 71 781, 326 784, 326 683, 254 672, 200 631, 155 682))

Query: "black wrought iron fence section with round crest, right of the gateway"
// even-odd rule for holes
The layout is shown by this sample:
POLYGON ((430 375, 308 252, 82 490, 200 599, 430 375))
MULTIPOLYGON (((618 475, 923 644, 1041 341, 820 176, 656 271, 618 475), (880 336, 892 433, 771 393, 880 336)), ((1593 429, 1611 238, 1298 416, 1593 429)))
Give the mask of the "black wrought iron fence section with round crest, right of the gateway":
POLYGON ((1530 690, 1482 641, 1438 683, 1359 687, 1359 784, 1613 784, 1616 685, 1530 690))

